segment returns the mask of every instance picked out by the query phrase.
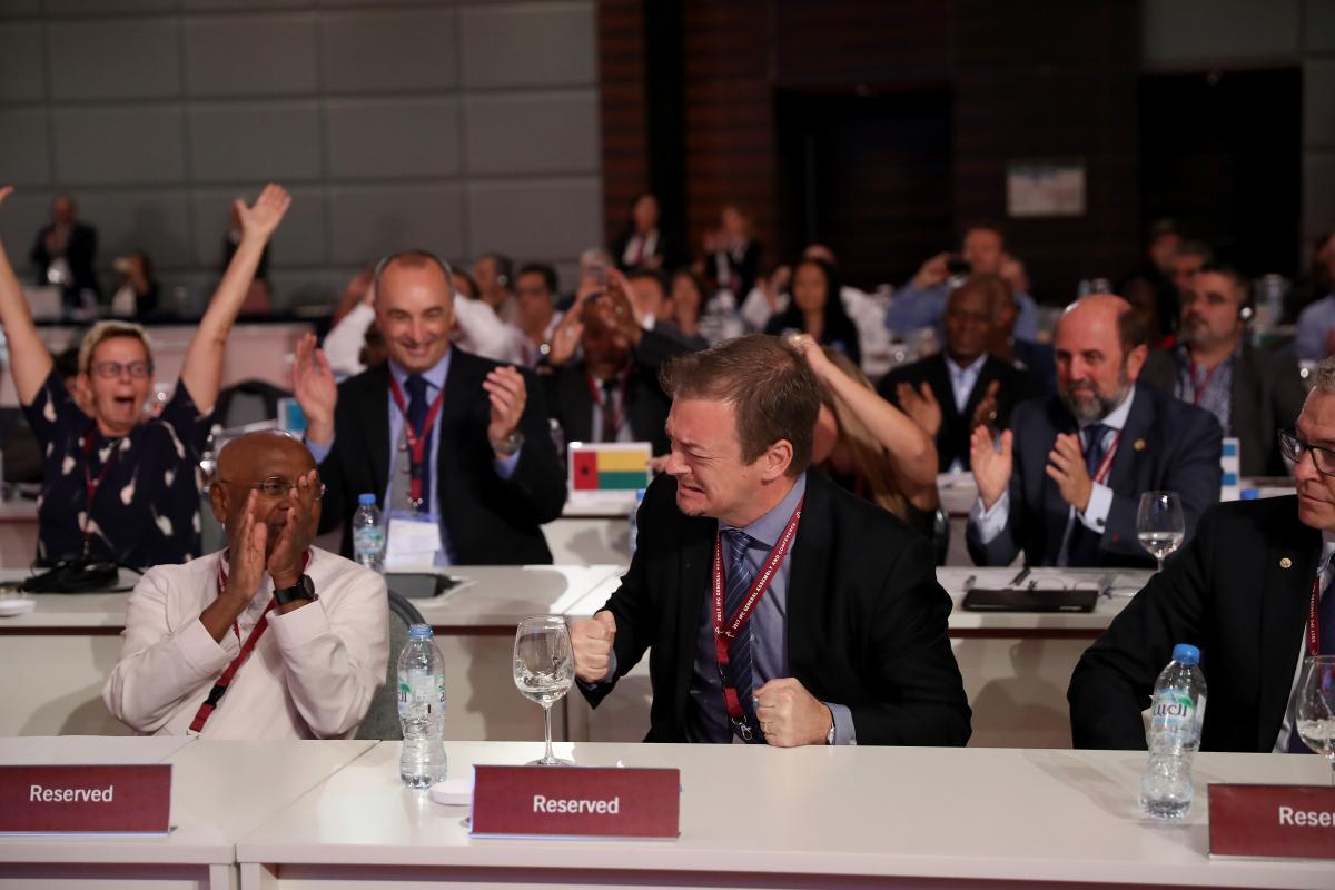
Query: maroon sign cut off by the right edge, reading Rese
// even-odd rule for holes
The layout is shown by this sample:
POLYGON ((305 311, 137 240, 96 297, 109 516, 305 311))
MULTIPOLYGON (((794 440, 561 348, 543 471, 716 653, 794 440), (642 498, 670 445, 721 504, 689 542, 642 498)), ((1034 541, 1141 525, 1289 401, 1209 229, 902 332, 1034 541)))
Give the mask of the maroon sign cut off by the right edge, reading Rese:
POLYGON ((1335 787, 1211 785, 1210 855, 1335 859, 1335 787))

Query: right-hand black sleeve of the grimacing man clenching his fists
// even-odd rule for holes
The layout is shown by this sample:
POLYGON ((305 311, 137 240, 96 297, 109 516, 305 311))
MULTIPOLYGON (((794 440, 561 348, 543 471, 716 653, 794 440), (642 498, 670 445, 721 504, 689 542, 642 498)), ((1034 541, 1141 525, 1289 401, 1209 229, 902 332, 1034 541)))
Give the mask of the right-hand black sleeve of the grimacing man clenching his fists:
POLYGON ((971 711, 948 636, 951 598, 926 540, 902 547, 880 590, 872 663, 886 695, 850 706, 858 745, 965 745, 971 711))

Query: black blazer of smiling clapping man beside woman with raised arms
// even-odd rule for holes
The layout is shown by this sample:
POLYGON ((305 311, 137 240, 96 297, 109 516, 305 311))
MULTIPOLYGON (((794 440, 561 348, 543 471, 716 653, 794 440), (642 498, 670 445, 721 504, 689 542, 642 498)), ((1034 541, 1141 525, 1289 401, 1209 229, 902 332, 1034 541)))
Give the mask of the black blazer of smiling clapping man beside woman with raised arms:
MULTIPOLYGON (((550 563, 538 527, 561 515, 566 474, 557 460, 542 387, 525 371, 523 448, 506 480, 487 442, 491 406, 482 382, 495 362, 450 347, 437 448, 441 516, 461 564, 550 563)), ((320 534, 343 523, 343 555, 352 555, 352 514, 363 491, 383 498, 390 472, 390 371, 376 366, 339 384, 334 448, 320 463, 324 494, 320 534)))

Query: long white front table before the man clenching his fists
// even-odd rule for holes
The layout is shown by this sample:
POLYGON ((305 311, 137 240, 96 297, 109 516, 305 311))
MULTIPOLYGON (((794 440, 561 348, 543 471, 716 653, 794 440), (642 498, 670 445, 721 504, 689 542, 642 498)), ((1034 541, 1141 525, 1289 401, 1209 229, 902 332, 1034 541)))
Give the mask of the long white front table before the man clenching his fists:
MULTIPOLYGON (((563 743, 583 766, 681 770, 677 841, 471 838, 383 742, 236 843, 244 890, 395 887, 1335 886, 1332 862, 1211 859, 1210 782, 1326 783, 1316 757, 1202 754, 1197 802, 1136 806, 1144 753, 563 743)), ((451 775, 537 743, 451 743, 451 775)))

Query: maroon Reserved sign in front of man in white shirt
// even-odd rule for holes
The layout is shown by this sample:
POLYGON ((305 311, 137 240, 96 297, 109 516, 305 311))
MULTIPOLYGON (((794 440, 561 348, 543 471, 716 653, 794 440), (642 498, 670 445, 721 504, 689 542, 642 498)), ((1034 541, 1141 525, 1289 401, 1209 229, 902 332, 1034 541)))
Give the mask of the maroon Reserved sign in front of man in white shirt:
POLYGON ((171 765, 0 766, 0 833, 167 834, 171 765))

